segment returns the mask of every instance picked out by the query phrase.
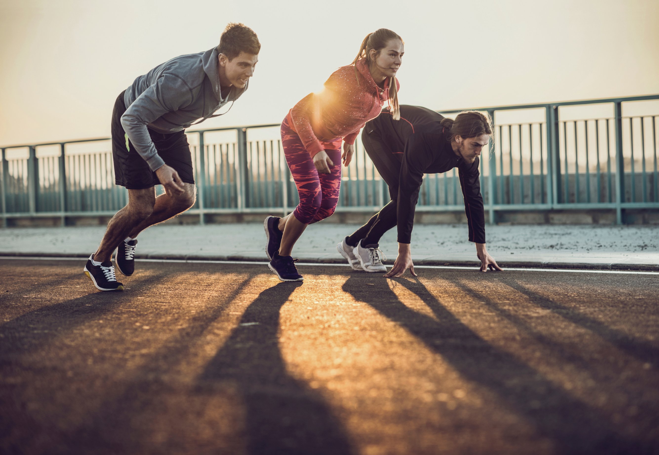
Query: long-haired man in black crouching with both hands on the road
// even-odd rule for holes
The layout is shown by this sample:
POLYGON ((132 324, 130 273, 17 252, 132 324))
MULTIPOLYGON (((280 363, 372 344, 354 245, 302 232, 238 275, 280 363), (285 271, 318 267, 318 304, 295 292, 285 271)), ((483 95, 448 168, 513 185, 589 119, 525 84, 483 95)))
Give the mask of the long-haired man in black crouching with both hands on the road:
POLYGON ((384 276, 416 276, 411 236, 418 192, 424 173, 442 173, 457 167, 465 199, 469 241, 476 244, 480 270, 503 270, 485 247, 485 212, 478 180, 479 157, 492 135, 489 117, 465 111, 455 120, 418 106, 400 106, 400 119, 388 109, 366 123, 362 143, 389 186, 391 201, 368 222, 339 242, 337 250, 355 270, 386 272, 380 259, 380 237, 398 226, 398 257, 384 276))

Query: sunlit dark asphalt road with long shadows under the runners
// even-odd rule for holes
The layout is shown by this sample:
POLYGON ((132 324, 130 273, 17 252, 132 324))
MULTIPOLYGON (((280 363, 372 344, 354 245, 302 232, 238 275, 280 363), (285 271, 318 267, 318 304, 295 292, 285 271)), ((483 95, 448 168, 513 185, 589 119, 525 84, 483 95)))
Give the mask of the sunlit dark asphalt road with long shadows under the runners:
POLYGON ((3 454, 659 453, 659 275, 0 260, 3 454))

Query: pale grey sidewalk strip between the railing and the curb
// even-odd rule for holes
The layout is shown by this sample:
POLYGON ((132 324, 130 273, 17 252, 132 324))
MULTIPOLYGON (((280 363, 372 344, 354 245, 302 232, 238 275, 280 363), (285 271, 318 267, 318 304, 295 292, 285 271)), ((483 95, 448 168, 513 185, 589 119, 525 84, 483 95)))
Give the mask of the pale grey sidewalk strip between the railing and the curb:
MULTIPOLYGON (((357 225, 309 226, 293 251, 305 262, 343 262, 336 244, 357 225)), ((0 229, 0 255, 79 256, 96 251, 104 226, 0 229)), ((659 270, 659 226, 488 226, 488 251, 503 266, 659 270)), ((136 257, 265 260, 262 224, 159 225, 138 237, 136 257)), ((396 231, 380 248, 393 264, 396 231)), ((466 225, 415 226, 415 264, 476 265, 466 225)))

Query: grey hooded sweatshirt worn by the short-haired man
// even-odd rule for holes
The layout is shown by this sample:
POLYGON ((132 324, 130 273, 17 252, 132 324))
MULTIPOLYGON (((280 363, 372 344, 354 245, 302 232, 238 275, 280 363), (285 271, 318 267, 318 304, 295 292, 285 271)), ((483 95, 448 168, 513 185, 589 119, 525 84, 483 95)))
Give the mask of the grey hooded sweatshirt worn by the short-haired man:
POLYGON ((139 76, 127 88, 121 125, 130 142, 152 171, 165 164, 147 127, 158 133, 175 133, 213 115, 247 90, 231 87, 222 99, 217 73, 217 49, 180 55, 139 76))

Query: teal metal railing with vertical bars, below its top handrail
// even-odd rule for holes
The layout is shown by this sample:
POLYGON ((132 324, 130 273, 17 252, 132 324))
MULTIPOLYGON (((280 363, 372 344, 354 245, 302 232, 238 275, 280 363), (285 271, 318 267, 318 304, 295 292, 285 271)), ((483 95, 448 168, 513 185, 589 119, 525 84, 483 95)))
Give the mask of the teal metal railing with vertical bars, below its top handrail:
MULTIPOLYGON (((490 222, 502 210, 616 210, 659 208, 656 113, 623 117, 625 102, 659 95, 476 109, 544 109, 543 121, 496 124, 480 182, 490 222), (559 119, 559 107, 612 104, 614 115, 559 119)), ((459 110, 440 111, 453 115, 459 110)), ((186 133, 193 155, 197 200, 188 213, 289 212, 298 202, 279 140, 279 125, 186 133)), ((1 148, 3 226, 21 217, 109 216, 127 202, 114 185, 109 138, 1 148)), ((337 211, 378 210, 386 184, 359 140, 344 168, 337 211)), ((456 169, 424 177, 418 211, 464 210, 456 169)))

